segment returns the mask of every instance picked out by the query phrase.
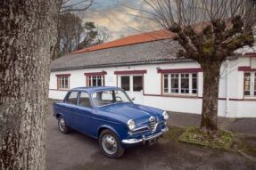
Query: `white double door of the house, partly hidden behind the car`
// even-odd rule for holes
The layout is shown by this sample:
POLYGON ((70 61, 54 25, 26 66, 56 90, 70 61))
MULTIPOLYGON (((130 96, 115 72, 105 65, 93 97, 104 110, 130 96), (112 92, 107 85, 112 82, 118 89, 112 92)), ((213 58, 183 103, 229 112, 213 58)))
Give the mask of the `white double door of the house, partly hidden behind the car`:
POLYGON ((136 104, 143 104, 143 75, 120 75, 118 85, 123 88, 136 104))

